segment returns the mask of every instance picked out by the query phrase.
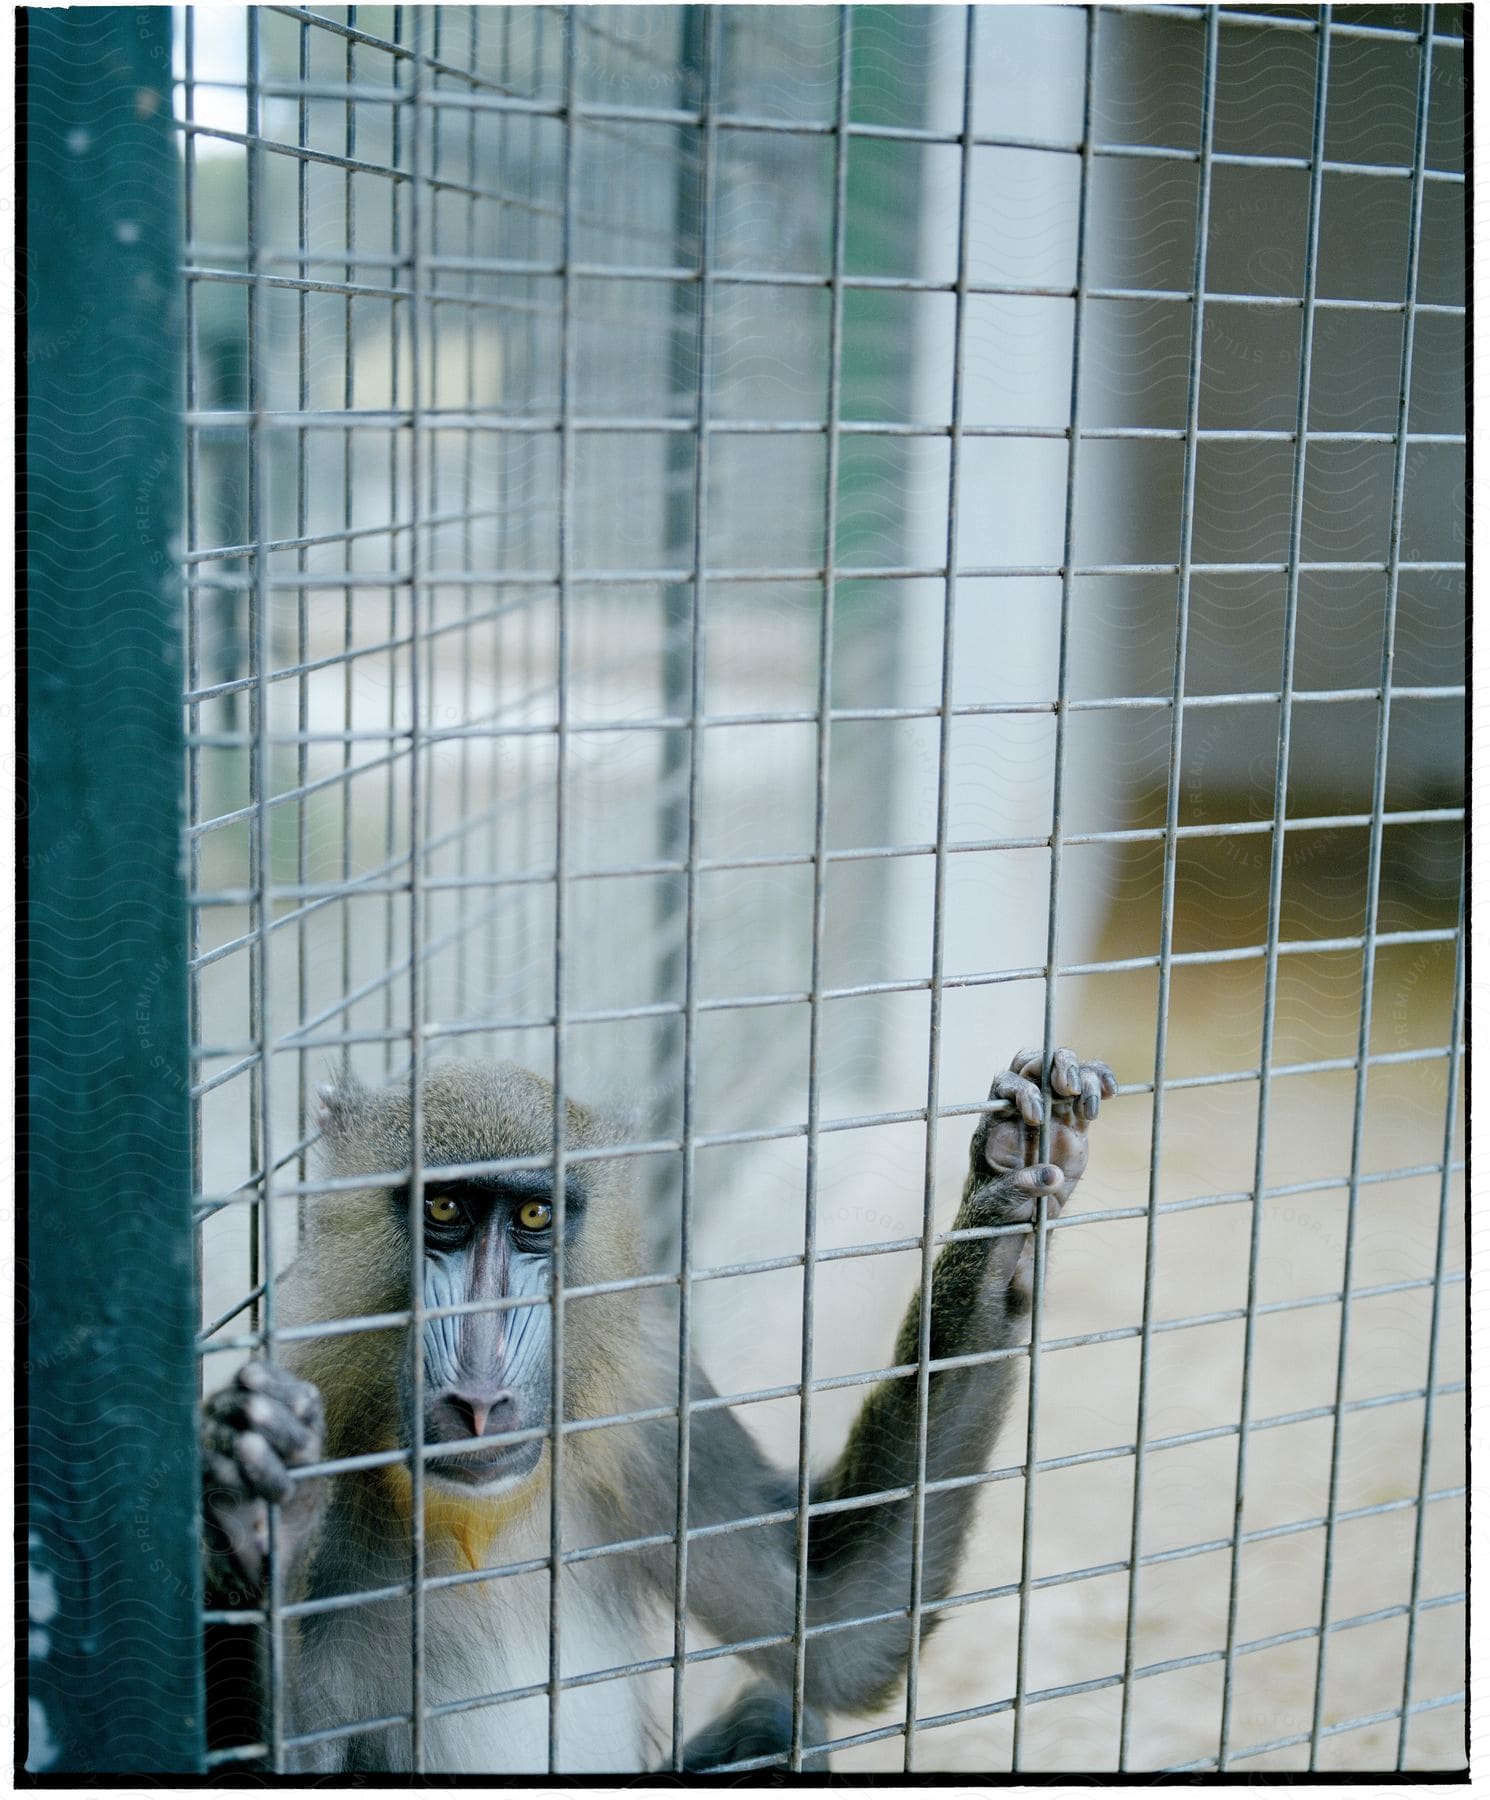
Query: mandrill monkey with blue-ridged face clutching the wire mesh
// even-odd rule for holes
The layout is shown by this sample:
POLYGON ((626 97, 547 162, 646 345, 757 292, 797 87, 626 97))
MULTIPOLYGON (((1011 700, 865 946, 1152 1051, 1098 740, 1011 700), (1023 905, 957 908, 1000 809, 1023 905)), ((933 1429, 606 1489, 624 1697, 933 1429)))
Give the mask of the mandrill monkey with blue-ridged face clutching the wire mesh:
MULTIPOLYGON (((930 1283, 932 1359, 1026 1341, 1040 1206, 1055 1219, 1069 1202, 1087 1166, 1087 1127, 1116 1091, 1107 1064, 1069 1049, 1020 1051, 993 1078, 972 1134, 956 1229, 997 1235, 983 1229, 941 1247, 930 1283)), ((416 1345, 407 1319, 410 1175, 389 1184, 398 1170, 412 1174, 408 1084, 371 1089, 342 1078, 322 1089, 320 1130, 328 1170, 346 1179, 313 1208, 306 1242, 279 1282, 279 1361, 243 1364, 203 1408, 207 1604, 248 1613, 247 1622, 227 1616, 209 1627, 209 1742, 238 1746, 248 1768, 265 1768, 252 1762, 252 1746, 266 1744, 277 1706, 292 1773, 410 1771, 408 1715, 417 1708, 426 1771, 542 1773, 551 1766, 552 1604, 560 1681, 653 1665, 644 1676, 561 1687, 552 1768, 673 1766, 678 1294, 669 1280, 605 1291, 642 1273, 633 1163, 606 1156, 624 1134, 603 1114, 565 1102, 558 1206, 549 1082, 515 1064, 428 1066, 414 1183, 425 1309, 416 1345), (486 1163, 536 1165, 545 1156, 547 1168, 480 1172, 486 1163), (360 1175, 381 1179, 358 1186, 360 1175), (561 1301, 561 1417, 581 1429, 561 1433, 558 1507, 554 1258, 563 1289, 585 1289, 561 1301), (403 1318, 297 1332, 380 1314, 403 1318), (623 1413, 632 1417, 583 1427, 623 1413), (410 1445, 421 1445, 425 1460, 421 1692, 412 1654, 410 1445), (353 1467, 319 1472, 320 1463, 356 1458, 353 1467), (259 1616, 270 1595, 270 1516, 279 1602, 272 1656, 259 1616), (554 1516, 561 1552, 624 1546, 563 1561, 556 1598, 554 1516), (369 1598, 351 1598, 360 1595, 369 1598)), ((891 1368, 918 1364, 920 1346, 916 1292, 891 1368)), ((1019 1361, 954 1361, 927 1377, 927 1483, 986 1469, 1019 1361)), ((794 1742, 797 1474, 767 1460, 696 1359, 687 1382, 689 1647, 702 1634, 720 1647, 749 1645, 740 1652, 749 1685, 686 1739, 682 1766, 785 1762, 794 1742), (761 1523, 731 1528, 736 1521, 761 1523)), ((925 1492, 918 1539, 918 1409, 916 1373, 882 1379, 837 1462, 812 1480, 803 1746, 824 1741, 830 1715, 884 1703, 903 1678, 918 1543, 921 1602, 952 1589, 977 1487, 925 1492), (822 1503, 828 1510, 817 1510, 822 1503)), ((921 1618, 923 1634, 936 1616, 921 1618)), ((826 1759, 808 1755, 803 1766, 826 1768, 826 1759)))

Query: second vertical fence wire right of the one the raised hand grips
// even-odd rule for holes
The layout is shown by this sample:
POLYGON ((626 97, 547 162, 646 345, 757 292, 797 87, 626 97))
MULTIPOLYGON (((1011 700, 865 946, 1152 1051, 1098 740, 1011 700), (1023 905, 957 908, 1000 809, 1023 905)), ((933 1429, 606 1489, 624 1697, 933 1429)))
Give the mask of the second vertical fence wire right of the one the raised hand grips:
POLYGON ((1267 1111, 1272 1093, 1272 1035, 1278 1010, 1278 938, 1283 922, 1283 862, 1288 817, 1288 751, 1294 727, 1294 652, 1299 626, 1299 562, 1303 553, 1305 464, 1308 457, 1308 392, 1314 369, 1314 301, 1319 283, 1319 211, 1324 191, 1324 113, 1330 94, 1330 14, 1319 9, 1314 72, 1314 131, 1308 164, 1308 223, 1305 229, 1303 319, 1299 322, 1299 394, 1294 416, 1294 488, 1288 518, 1288 574, 1283 599, 1283 666, 1278 700, 1278 761, 1272 787, 1272 855, 1267 887, 1267 956, 1263 961, 1263 1017, 1258 1055, 1258 1138, 1252 1161, 1252 1229, 1247 1246, 1247 1316, 1242 1332, 1242 1411, 1236 1435, 1236 1492, 1231 1525, 1231 1580, 1225 1616, 1225 1665, 1216 1771, 1231 1755, 1231 1708, 1236 1679, 1236 1622, 1242 1600, 1242 1521, 1247 1503, 1247 1438, 1252 1426, 1252 1357, 1258 1323, 1258 1260, 1261 1251, 1263 1190, 1267 1184, 1267 1111))

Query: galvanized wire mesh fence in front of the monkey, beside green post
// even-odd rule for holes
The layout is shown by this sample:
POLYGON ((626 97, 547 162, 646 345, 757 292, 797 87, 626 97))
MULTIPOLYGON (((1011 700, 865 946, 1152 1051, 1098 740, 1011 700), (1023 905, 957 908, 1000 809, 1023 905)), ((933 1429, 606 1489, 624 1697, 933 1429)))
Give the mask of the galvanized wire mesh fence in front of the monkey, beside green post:
POLYGON ((509 1057, 552 1143, 466 1174, 547 1166, 560 1231, 587 1163, 646 1195, 642 1273, 531 1301, 542 1546, 435 1568, 423 1454, 331 1462, 408 1471, 403 1699, 297 1712, 293 1631, 390 1589, 275 1579, 218 1760, 682 1766, 747 1649, 689 1561, 763 1523, 689 1523, 723 1404, 795 1532, 790 1748, 736 1768, 1461 1760, 1459 13, 178 13, 203 1386, 428 1321, 423 1226, 410 1305, 283 1307, 367 1186, 338 1073, 417 1120, 509 1057), (939 1202, 1024 1040, 1123 1091, 983 1354, 1028 1404, 939 1480, 939 1202), (572 1321, 657 1294, 723 1400, 576 1415, 572 1321), (813 1622, 808 1471, 896 1379, 914 1472, 855 1505, 909 1501, 909 1586, 813 1622), (668 1420, 671 1525, 574 1541, 574 1445, 668 1420), (565 1633, 657 1550, 655 1629, 565 1633), (542 1667, 432 1676, 461 1593, 542 1667), (817 1737, 876 1620, 903 1681, 817 1737))

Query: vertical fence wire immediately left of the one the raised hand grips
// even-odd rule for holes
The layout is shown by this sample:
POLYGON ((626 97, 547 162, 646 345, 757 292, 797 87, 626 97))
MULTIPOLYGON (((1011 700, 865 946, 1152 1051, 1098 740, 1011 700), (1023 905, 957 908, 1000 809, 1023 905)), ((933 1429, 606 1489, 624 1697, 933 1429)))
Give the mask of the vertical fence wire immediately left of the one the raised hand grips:
POLYGON ((932 963, 927 1024, 927 1138, 921 1175, 921 1316, 916 1339, 916 1480, 911 1499, 911 1660, 905 1670, 905 1771, 916 1768, 916 1708, 921 1676, 921 1606, 927 1548, 927 1426, 930 1418, 930 1294, 936 1267, 936 1145, 941 1107, 941 1004, 947 956, 947 830, 952 805, 952 673, 957 625, 957 533, 963 502, 963 400, 972 279, 972 158, 974 67, 977 61, 977 7, 963 23, 963 126, 957 157, 957 281, 952 301, 952 412, 947 464, 947 576, 941 610, 941 700, 936 760, 936 848, 932 851, 932 963))

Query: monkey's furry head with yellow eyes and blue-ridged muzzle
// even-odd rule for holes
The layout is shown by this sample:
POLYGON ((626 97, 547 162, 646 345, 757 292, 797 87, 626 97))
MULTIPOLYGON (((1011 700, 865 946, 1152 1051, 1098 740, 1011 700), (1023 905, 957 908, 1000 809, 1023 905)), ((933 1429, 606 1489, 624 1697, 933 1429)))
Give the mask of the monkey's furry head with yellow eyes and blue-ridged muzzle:
MULTIPOLYGON (((551 1168, 439 1174, 549 1156, 552 1087, 509 1062, 443 1062, 426 1069, 421 1094, 423 1303, 430 1316, 419 1346, 417 1436, 437 1447, 543 1429, 552 1408, 552 1260, 563 1256, 565 1285, 637 1269, 628 1165, 585 1159, 567 1166, 560 1244, 551 1168), (450 1310, 464 1307, 471 1310, 450 1310)), ((320 1127, 331 1174, 407 1168, 408 1085, 369 1089, 342 1080, 322 1089, 320 1127)), ((567 1150, 608 1141, 594 1114, 567 1107, 567 1150)), ((317 1208, 308 1273, 293 1289, 319 1292, 322 1318, 328 1298, 340 1316, 401 1310, 410 1294, 410 1231, 408 1183, 328 1195, 317 1208)), ((617 1330, 628 1330, 626 1309, 594 1300, 565 1307, 565 1417, 619 1409, 606 1372, 630 1359, 614 1341, 617 1330)), ((333 1456, 356 1454, 380 1433, 396 1435, 403 1447, 416 1442, 412 1336, 401 1328, 320 1339, 297 1359, 326 1397, 333 1456), (389 1417, 389 1388, 396 1418, 389 1417)), ((489 1449, 470 1442, 428 1458, 426 1480, 497 1494, 533 1476, 543 1447, 542 1436, 489 1449)))

